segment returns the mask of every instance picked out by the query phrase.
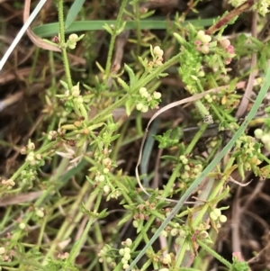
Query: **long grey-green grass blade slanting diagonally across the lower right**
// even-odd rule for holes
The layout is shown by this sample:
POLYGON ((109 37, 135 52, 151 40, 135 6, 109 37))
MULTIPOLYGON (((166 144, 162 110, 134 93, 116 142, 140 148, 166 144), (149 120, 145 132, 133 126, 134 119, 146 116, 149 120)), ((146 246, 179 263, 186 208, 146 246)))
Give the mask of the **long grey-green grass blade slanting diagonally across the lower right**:
POLYGON ((193 193, 193 191, 202 183, 202 180, 213 170, 214 167, 216 167, 220 160, 226 155, 226 153, 231 149, 238 140, 238 138, 241 136, 241 134, 247 129, 248 123, 253 119, 255 114, 257 113, 257 110, 259 109, 260 105, 262 104, 266 93, 270 86, 270 68, 267 69, 266 77, 264 85, 261 87, 260 92, 257 95, 257 99, 255 103, 253 104, 250 112, 247 114, 247 117, 245 121, 242 123, 242 125, 239 127, 238 131, 235 133, 233 138, 229 140, 229 143, 220 151, 220 153, 217 155, 217 157, 211 161, 211 163, 205 167, 205 169, 202 171, 202 174, 198 176, 194 181, 193 184, 188 187, 188 189, 185 191, 184 195, 180 198, 179 202, 175 205, 174 209, 170 212, 170 214, 166 217, 166 220, 163 221, 163 223, 160 225, 154 236, 148 241, 147 245, 140 250, 139 255, 132 261, 129 268, 126 269, 126 271, 130 271, 139 261, 141 257, 144 256, 148 248, 154 243, 154 241, 159 237, 160 232, 166 228, 166 225, 169 223, 169 221, 172 220, 172 218, 175 216, 177 212, 179 212, 180 208, 183 206, 184 202, 188 199, 188 197, 193 193))

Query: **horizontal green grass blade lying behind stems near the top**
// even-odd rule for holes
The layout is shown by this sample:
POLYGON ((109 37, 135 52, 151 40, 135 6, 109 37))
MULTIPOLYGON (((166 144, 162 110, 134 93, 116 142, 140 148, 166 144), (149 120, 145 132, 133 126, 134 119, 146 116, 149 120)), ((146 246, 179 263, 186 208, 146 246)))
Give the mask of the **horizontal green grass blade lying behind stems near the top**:
MULTIPOLYGON (((213 19, 202 19, 202 20, 187 20, 183 23, 183 25, 187 23, 192 23, 193 25, 200 25, 201 27, 210 26, 212 24, 213 19)), ((104 30, 103 26, 107 23, 109 25, 115 24, 116 21, 79 21, 73 22, 66 29, 66 33, 70 32, 85 32, 85 31, 96 31, 96 30, 104 30)), ((173 22, 164 20, 142 20, 139 23, 140 29, 166 29, 170 27, 170 24, 173 22)), ((40 36, 41 38, 52 37, 54 35, 58 35, 58 23, 48 23, 40 26, 36 26, 32 29, 32 31, 40 36)), ((125 29, 136 29, 137 24, 136 21, 128 21, 126 22, 125 29)))

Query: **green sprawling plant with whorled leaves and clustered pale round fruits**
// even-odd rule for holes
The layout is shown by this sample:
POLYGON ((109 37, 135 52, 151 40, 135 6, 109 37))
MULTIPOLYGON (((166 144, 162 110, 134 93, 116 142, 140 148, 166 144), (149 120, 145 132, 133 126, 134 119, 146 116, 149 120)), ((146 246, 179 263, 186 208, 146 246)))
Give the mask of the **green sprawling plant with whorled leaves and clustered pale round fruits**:
MULTIPOLYGON (((197 2, 194 1, 193 8, 197 2)), ((257 130, 256 138, 248 136, 245 130, 270 86, 270 68, 267 67, 270 46, 245 35, 239 35, 232 44, 223 37, 223 32, 249 8, 264 12, 266 1, 247 1, 238 5, 230 13, 216 18, 207 30, 202 30, 202 24, 198 22, 186 23, 184 15, 176 15, 169 23, 153 23, 153 13, 142 13, 136 0, 120 1, 116 21, 96 24, 74 22, 84 1, 75 1, 66 21, 63 0, 57 3, 58 24, 42 25, 34 31, 43 37, 58 33, 54 44, 61 50, 65 77, 58 88, 54 82, 44 97, 43 112, 49 122, 48 130, 40 135, 40 142, 30 139, 21 149, 26 156, 25 162, 13 176, 2 179, 0 186, 1 196, 31 189, 42 193, 34 203, 6 208, 0 223, 0 268, 202 270, 198 258, 202 253, 208 253, 226 270, 249 270, 238 251, 228 261, 211 245, 213 233, 227 221, 223 211, 229 206, 218 207, 218 204, 229 196, 231 173, 238 170, 244 179, 245 172, 251 170, 262 179, 269 177, 269 160, 260 151, 262 145, 270 149, 269 119, 264 119, 265 130, 257 130), (152 26, 166 29, 163 41, 154 35, 143 35, 141 29, 152 26), (85 35, 76 32, 101 27, 111 36, 105 67, 96 63, 99 77, 93 72, 89 76, 92 84, 83 80, 76 82, 67 51, 75 49, 78 42, 89 41, 91 45, 91 33, 88 36, 87 32, 85 35), (115 68, 112 56, 116 39, 130 29, 137 33, 137 40, 130 39, 136 44, 135 50, 130 52, 130 63, 125 63, 122 69, 115 68), (70 35, 66 39, 67 32, 70 35), (246 51, 241 50, 244 44, 248 47, 246 51), (235 90, 240 79, 247 75, 233 77, 233 73, 229 73, 229 64, 232 59, 252 53, 258 55, 256 68, 265 76, 257 78, 260 88, 257 100, 244 122, 238 124, 232 113, 241 96, 235 94, 235 90), (166 127, 162 135, 154 136, 160 149, 174 149, 174 154, 163 157, 164 165, 171 168, 167 182, 161 189, 153 189, 145 176, 128 176, 118 169, 121 147, 125 140, 130 140, 126 134, 129 122, 126 124, 123 118, 115 120, 113 113, 123 107, 127 115, 136 112, 137 134, 131 140, 141 139, 140 113, 161 106, 162 94, 158 87, 161 79, 170 73, 182 78, 191 98, 168 105, 167 109, 193 101, 195 108, 191 115, 201 124, 188 144, 184 144, 179 128, 166 127), (194 155, 197 142, 212 122, 219 124, 220 131, 228 131, 231 139, 224 146, 224 140, 213 138, 207 142, 207 158, 194 155), (38 149, 36 145, 39 145, 38 149), (229 158, 222 166, 220 161, 226 154, 229 158), (267 166, 261 167, 263 161, 267 166), (49 175, 43 172, 46 165, 51 169, 49 175), (76 178, 79 183, 76 195, 62 196, 61 189, 71 180, 76 183, 76 178), (184 204, 191 195, 194 203, 184 204), (104 207, 104 202, 117 203, 121 209, 118 221, 105 233, 103 221, 111 212, 104 207), (8 227, 12 221, 14 223, 8 227), (121 239, 118 231, 130 225, 136 234, 121 239), (158 238, 166 239, 166 247, 153 246, 158 238)), ((210 23, 209 20, 203 22, 210 23)), ((51 52, 49 58, 53 67, 51 52)), ((268 111, 266 109, 266 113, 268 111)), ((148 161, 143 160, 147 156, 143 147, 141 151, 138 149, 136 158, 142 156, 144 164, 148 161)), ((146 143, 145 149, 151 151, 152 148, 146 143)), ((207 266, 203 270, 206 269, 207 266)))

